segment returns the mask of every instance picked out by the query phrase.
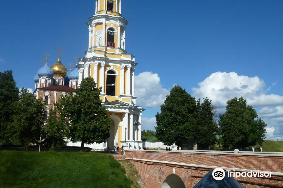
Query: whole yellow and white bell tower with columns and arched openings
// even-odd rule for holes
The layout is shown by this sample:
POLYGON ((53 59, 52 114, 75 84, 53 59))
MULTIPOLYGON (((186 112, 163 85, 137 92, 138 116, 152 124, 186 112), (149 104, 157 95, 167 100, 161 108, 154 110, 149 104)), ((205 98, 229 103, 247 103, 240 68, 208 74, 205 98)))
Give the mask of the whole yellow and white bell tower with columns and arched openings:
POLYGON ((88 50, 77 65, 79 85, 91 76, 102 87, 100 98, 113 120, 107 147, 142 149, 142 107, 136 106, 135 56, 125 50, 127 20, 121 0, 96 0, 95 14, 86 23, 88 50))

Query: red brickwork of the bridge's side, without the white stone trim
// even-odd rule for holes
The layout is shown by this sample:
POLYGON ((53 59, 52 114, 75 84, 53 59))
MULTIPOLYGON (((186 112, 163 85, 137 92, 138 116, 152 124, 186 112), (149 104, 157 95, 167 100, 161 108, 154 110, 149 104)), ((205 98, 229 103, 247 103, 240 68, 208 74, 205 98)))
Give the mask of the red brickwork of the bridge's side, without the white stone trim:
MULTIPOLYGON (((205 154, 204 152, 127 150, 125 152, 125 157, 195 165, 283 172, 283 154, 281 156, 262 156, 236 155, 233 153, 223 154, 220 152, 219 154, 217 152, 205 154)), ((183 180, 186 188, 191 188, 196 185, 204 175, 213 170, 137 160, 131 160, 131 163, 136 167, 147 188, 161 188, 166 177, 173 174, 173 172, 183 180)), ((237 180, 245 187, 270 187, 270 184, 283 187, 283 177, 279 176, 273 176, 271 178, 247 177, 237 178, 237 180)))

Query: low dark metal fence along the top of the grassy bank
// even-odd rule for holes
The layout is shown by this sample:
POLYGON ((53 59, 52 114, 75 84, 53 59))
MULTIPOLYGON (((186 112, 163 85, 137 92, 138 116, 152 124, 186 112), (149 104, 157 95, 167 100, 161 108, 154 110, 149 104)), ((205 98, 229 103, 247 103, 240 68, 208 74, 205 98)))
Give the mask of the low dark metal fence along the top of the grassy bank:
MULTIPOLYGON (((39 147, 1 147, 0 151, 39 151, 39 147)), ((80 151, 80 148, 66 147, 66 148, 40 148, 40 151, 58 151, 58 152, 75 152, 80 151)), ((118 154, 118 150, 110 150, 110 149, 92 149, 92 148, 84 148, 84 152, 97 152, 97 153, 108 153, 108 154, 118 154)))

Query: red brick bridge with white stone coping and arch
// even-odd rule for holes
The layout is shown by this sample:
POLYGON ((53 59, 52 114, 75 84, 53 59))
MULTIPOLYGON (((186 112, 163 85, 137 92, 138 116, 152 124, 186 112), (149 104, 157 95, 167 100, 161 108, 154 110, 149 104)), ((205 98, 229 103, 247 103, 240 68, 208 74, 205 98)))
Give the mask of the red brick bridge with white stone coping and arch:
POLYGON ((126 150, 147 188, 192 188, 209 171, 272 172, 271 177, 240 177, 245 187, 283 187, 283 153, 234 151, 126 150))

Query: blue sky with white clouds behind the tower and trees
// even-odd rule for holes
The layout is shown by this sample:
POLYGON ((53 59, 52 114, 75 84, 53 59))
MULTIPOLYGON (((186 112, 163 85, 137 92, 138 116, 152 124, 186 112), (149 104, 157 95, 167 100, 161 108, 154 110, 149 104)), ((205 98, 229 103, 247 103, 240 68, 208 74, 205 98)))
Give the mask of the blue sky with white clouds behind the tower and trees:
MULTIPOLYGON (((218 113, 244 97, 267 123, 267 139, 283 140, 282 8, 281 0, 122 0, 143 129, 154 130, 160 105, 179 85, 211 99, 218 113)), ((53 65, 59 45, 69 69, 88 48, 94 13, 95 0, 0 1, 0 71, 12 70, 17 86, 33 91, 44 53, 53 65)))

